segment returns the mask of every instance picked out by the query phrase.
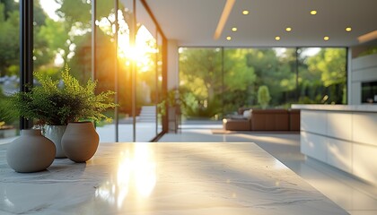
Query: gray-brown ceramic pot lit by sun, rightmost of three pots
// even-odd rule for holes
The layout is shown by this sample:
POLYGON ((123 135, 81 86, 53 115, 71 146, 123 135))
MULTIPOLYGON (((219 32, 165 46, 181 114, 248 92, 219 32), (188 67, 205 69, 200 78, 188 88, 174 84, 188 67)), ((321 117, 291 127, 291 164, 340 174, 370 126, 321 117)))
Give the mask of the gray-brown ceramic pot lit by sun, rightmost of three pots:
POLYGON ((92 122, 75 122, 66 126, 62 148, 68 159, 80 163, 92 158, 99 142, 100 137, 92 122))

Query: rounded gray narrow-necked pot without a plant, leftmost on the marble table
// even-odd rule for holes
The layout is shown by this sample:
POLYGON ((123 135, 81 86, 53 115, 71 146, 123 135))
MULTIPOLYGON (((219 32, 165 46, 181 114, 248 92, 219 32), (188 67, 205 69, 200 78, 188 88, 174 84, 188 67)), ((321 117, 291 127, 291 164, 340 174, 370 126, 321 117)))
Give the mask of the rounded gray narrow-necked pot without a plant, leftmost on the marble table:
POLYGON ((42 136, 40 129, 27 129, 11 142, 6 150, 6 160, 16 172, 38 172, 52 164, 55 152, 54 142, 42 136))

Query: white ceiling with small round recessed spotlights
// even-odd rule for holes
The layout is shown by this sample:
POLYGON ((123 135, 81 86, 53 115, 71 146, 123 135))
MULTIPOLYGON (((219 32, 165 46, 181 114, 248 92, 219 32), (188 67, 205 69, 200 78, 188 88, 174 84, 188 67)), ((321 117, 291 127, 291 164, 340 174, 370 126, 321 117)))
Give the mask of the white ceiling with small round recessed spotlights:
POLYGON ((179 46, 352 47, 377 30, 377 0, 236 0, 220 39, 225 0, 145 0, 167 39, 179 46), (242 10, 249 15, 242 15, 242 10), (317 15, 311 15, 317 10, 317 15), (237 32, 232 32, 232 27, 237 32), (346 27, 352 27, 346 32, 346 27), (285 32, 292 27, 291 32, 285 32), (232 40, 227 41, 226 36, 232 40), (275 37, 281 40, 276 41, 275 37), (329 36, 329 41, 323 37, 329 36))

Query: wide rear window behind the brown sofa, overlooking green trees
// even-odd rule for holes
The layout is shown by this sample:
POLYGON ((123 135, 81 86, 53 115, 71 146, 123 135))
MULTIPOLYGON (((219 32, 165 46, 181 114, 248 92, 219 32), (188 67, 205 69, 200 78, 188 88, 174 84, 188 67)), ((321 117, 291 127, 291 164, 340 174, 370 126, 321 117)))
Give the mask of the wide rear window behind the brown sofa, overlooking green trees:
POLYGON ((241 107, 346 104, 346 48, 180 47, 180 92, 186 117, 218 119, 241 107))

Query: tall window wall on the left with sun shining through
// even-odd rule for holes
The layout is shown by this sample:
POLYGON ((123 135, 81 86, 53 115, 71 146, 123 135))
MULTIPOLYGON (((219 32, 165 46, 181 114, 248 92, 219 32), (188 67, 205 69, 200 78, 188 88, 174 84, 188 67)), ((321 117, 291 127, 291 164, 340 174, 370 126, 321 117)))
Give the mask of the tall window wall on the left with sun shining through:
MULTIPOLYGON (((162 132, 157 105, 164 40, 142 1, 33 0, 32 5, 32 71, 59 80, 67 65, 82 84, 93 78, 97 93, 116 92, 118 107, 104 112, 113 121, 95 122, 100 142, 148 142, 162 132)), ((0 108, 20 89, 19 10, 18 1, 0 3, 0 108)), ((1 109, 0 130, 19 127, 11 112, 1 109)), ((0 138, 4 135, 9 134, 0 131, 0 138)))

